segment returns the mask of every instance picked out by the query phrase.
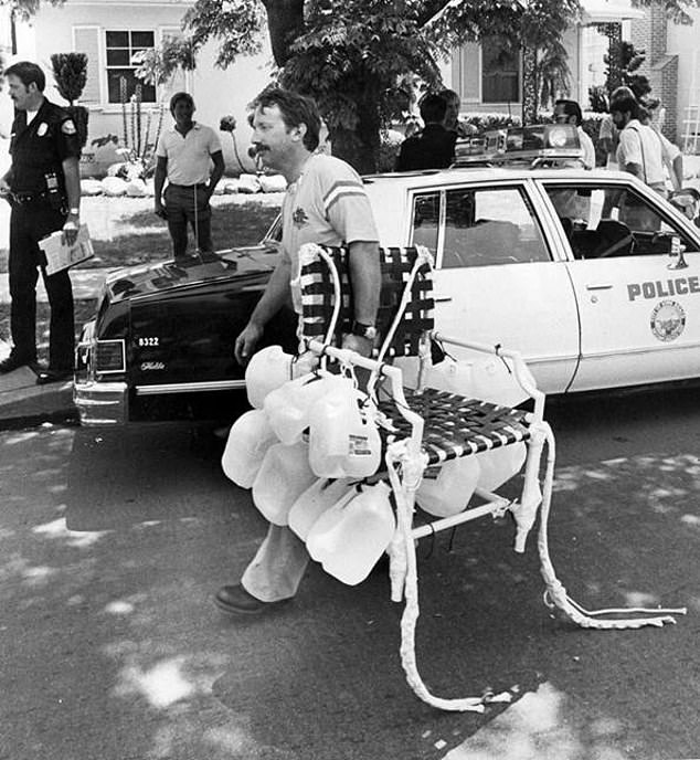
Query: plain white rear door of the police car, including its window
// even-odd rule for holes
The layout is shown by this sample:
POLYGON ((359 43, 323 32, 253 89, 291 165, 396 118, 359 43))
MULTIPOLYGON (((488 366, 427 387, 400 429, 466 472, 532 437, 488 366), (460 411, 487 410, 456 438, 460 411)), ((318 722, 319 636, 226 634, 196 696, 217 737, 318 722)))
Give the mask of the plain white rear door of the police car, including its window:
POLYGON ((436 253, 437 329, 519 350, 545 392, 563 391, 579 353, 575 298, 527 182, 420 191, 412 205, 411 243, 436 253))

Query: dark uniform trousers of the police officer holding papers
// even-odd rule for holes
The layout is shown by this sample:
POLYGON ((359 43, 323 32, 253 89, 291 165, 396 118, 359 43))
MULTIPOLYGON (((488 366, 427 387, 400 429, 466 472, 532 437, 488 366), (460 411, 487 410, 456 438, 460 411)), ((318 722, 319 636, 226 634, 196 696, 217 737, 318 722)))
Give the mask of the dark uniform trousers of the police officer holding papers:
MULTIPOLYGON (((26 361, 36 360, 36 265, 43 254, 39 241, 61 230, 65 215, 45 199, 14 204, 10 217, 10 325, 14 351, 26 361)), ((47 275, 41 273, 51 306, 49 365, 55 370, 73 367, 73 288, 67 270, 47 275)))

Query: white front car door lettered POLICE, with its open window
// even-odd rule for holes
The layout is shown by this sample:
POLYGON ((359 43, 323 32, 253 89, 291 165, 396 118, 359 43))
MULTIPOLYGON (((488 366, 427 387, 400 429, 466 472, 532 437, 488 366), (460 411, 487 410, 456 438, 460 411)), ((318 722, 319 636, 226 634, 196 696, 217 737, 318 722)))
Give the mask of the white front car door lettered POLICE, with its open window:
POLYGON ((564 219, 581 313, 572 390, 700 377, 697 229, 629 180, 544 187, 555 207, 566 191, 584 199, 579 219, 564 219))

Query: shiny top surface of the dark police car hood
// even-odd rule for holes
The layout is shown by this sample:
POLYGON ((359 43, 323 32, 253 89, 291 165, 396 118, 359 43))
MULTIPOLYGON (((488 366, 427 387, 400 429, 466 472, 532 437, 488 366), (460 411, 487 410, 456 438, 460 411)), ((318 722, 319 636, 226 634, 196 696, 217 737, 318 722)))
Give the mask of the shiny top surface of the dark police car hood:
POLYGON ((199 286, 215 279, 257 278, 274 270, 278 252, 274 245, 230 249, 191 256, 187 263, 172 260, 129 266, 110 272, 105 279, 109 300, 117 303, 137 296, 199 286))

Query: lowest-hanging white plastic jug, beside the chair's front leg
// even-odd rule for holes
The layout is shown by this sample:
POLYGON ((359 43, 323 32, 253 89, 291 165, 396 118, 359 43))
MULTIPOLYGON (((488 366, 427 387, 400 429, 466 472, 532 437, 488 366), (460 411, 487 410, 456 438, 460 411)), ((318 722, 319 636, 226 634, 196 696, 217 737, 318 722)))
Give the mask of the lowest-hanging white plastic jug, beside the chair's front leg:
POLYGON ((316 520, 306 546, 326 572, 348 585, 370 574, 396 529, 390 492, 380 482, 349 502, 341 499, 316 520))

